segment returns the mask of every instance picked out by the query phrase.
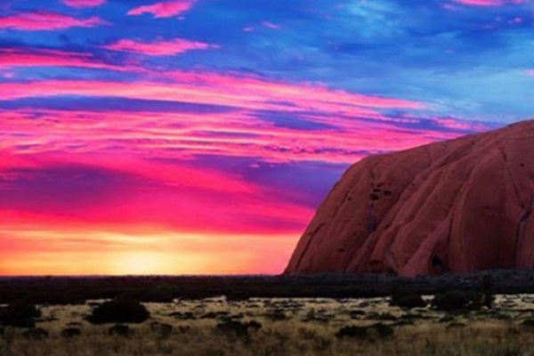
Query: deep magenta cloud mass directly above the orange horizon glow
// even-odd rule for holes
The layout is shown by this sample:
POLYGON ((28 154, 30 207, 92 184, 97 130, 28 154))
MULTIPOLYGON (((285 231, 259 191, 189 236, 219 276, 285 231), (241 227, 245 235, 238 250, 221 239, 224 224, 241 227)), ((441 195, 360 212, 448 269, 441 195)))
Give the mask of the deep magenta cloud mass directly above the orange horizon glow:
POLYGON ((15 169, 25 167, 22 174, 28 177, 21 179, 16 175, 9 176, 10 167, 4 166, 2 170, 8 176, 2 177, 0 189, 4 188, 4 184, 8 185, 7 190, 18 198, 14 208, 20 209, 21 214, 19 217, 12 214, 12 208, 9 205, 6 208, 4 199, 0 202, 0 225, 10 221, 9 224, 14 226, 27 226, 26 216, 30 214, 28 217, 33 223, 48 223, 50 226, 93 225, 122 227, 123 230, 158 226, 182 232, 237 235, 295 232, 295 226, 300 229, 312 215, 310 207, 280 201, 269 188, 247 182, 239 174, 206 170, 194 166, 192 162, 184 164, 139 158, 125 152, 102 151, 78 154, 77 158, 71 156, 69 152, 30 154, 26 158, 33 160, 33 167, 28 167, 30 164, 12 166, 15 169), (69 172, 65 167, 84 167, 82 172, 90 168, 90 172, 115 178, 111 181, 85 181, 90 184, 88 189, 92 189, 91 198, 82 193, 80 198, 70 195, 61 199, 62 188, 47 190, 48 195, 52 191, 60 198, 61 204, 34 198, 31 192, 28 193, 28 187, 31 191, 39 191, 36 186, 42 180, 50 179, 53 167, 57 166, 63 167, 62 172, 69 172), (243 212, 247 212, 250 219, 244 221, 243 212), (42 216, 39 218, 37 214, 42 216), (264 225, 257 223, 265 220, 278 223, 266 230, 264 225))

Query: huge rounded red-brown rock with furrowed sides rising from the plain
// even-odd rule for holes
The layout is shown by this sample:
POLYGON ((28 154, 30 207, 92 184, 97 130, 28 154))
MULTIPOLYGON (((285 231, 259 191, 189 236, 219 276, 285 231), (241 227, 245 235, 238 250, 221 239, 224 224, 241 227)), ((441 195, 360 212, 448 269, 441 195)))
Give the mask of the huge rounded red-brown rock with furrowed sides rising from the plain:
POLYGON ((534 268, 534 120, 349 168, 286 273, 534 268))

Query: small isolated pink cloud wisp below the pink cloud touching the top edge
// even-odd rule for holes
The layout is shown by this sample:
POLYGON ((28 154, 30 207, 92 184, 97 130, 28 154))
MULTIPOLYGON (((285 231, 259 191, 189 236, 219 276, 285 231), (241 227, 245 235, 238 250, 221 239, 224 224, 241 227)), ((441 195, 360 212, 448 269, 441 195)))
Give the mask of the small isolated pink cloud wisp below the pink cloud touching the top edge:
POLYGON ((121 39, 114 44, 102 46, 102 48, 112 51, 142 53, 150 56, 168 56, 192 50, 205 50, 210 47, 214 46, 181 38, 175 38, 169 41, 157 40, 151 43, 121 39))

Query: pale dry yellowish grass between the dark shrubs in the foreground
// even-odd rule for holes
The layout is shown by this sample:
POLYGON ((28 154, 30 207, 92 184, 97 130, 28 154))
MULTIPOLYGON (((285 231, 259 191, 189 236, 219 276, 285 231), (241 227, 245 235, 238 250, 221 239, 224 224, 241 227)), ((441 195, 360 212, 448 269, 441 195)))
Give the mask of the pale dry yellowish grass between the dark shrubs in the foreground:
POLYGON ((534 354, 534 327, 522 326, 523 320, 534 319, 532 295, 499 295, 492 310, 452 316, 428 308, 403 311, 390 307, 381 298, 146 305, 152 320, 132 326, 134 335, 130 337, 109 336, 110 325, 88 324, 84 316, 91 311, 89 305, 45 306, 37 327, 47 330, 50 337, 30 340, 22 336, 24 330, 7 328, 0 336, 0 356, 534 354), (194 319, 187 319, 187 312, 192 312, 194 319), (221 334, 215 327, 225 316, 239 321, 256 320, 263 328, 250 331, 248 338, 221 334), (171 336, 158 337, 150 328, 151 321, 173 325, 171 336), (75 326, 81 329, 82 336, 61 336, 61 330, 72 322, 80 323, 75 326), (341 327, 376 322, 392 325, 393 336, 375 341, 335 336, 341 327))

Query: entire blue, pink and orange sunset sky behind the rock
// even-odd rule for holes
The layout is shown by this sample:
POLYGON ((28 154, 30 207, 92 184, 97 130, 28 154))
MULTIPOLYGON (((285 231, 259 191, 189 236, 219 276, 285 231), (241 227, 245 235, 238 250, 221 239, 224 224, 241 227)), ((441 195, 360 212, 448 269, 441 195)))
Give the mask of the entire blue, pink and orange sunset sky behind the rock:
POLYGON ((530 0, 0 1, 0 275, 272 274, 344 170, 534 117, 530 0))

